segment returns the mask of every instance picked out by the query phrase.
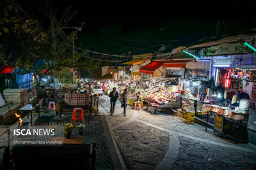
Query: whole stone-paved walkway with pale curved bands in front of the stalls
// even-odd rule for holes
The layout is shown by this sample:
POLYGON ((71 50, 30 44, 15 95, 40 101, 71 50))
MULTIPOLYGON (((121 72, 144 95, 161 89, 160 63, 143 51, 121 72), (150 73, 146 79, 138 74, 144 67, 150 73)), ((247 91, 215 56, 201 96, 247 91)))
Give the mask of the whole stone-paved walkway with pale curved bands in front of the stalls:
POLYGON ((100 98, 100 112, 117 139, 131 169, 256 169, 256 147, 224 140, 198 124, 180 118, 127 108, 120 102, 114 116, 109 98, 100 98))

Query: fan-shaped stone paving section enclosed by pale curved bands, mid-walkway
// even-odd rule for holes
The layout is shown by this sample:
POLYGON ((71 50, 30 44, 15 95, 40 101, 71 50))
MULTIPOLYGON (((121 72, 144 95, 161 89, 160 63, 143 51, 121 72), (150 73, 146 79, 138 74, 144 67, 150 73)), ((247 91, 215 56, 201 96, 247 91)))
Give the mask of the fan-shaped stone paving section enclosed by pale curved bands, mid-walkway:
POLYGON ((134 122, 113 130, 132 169, 154 169, 168 150, 168 132, 134 122))

